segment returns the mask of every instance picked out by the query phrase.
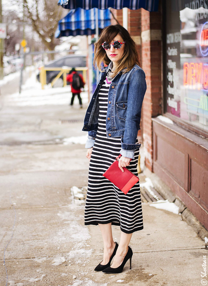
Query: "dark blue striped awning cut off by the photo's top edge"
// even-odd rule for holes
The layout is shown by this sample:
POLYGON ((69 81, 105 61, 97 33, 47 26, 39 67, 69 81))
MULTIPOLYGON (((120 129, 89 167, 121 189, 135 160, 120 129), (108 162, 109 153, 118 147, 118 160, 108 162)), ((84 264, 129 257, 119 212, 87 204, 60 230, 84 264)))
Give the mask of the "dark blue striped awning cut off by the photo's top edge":
POLYGON ((59 0, 58 5, 66 9, 83 8, 86 10, 98 8, 105 10, 109 7, 120 10, 122 8, 129 8, 137 10, 144 8, 148 11, 158 10, 159 0, 59 0))

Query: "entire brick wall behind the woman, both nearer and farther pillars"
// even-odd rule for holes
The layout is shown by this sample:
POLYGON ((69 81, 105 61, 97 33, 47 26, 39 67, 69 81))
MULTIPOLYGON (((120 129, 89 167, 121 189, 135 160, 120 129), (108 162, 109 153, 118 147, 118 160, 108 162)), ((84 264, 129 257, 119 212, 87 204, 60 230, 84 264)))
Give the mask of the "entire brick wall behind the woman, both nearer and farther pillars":
MULTIPOLYGON (((112 9, 112 12, 122 25, 122 10, 112 9)), ((116 21, 113 20, 112 24, 116 24, 116 21)), ((162 114, 161 12, 128 9, 128 31, 137 44, 140 66, 146 74, 147 90, 142 106, 141 131, 138 132, 138 138, 143 141, 145 165, 153 171, 152 117, 162 114)))

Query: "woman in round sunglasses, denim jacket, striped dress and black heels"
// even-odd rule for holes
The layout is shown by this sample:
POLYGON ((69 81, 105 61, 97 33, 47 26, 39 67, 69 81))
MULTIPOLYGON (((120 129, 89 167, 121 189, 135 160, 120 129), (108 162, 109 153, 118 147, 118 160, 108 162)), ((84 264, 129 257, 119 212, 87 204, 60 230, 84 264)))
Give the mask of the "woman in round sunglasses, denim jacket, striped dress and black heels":
POLYGON ((136 44, 119 24, 103 29, 95 44, 95 63, 101 72, 82 129, 88 131, 85 147, 90 161, 85 225, 99 225, 103 236, 103 260, 95 270, 120 273, 128 259, 131 269, 129 242, 133 232, 143 229, 140 188, 136 183, 125 195, 102 175, 121 154, 119 168, 127 167, 138 176, 137 133, 146 81, 136 44), (102 62, 108 64, 103 70, 102 62), (111 225, 120 226, 119 245, 111 225))

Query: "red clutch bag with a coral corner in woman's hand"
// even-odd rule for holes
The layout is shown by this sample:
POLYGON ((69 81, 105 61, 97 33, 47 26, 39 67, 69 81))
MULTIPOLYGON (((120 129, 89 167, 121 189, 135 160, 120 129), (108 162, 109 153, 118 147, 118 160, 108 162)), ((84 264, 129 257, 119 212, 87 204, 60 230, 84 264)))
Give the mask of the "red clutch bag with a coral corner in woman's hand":
POLYGON ((120 154, 118 157, 116 157, 116 160, 105 171, 103 176, 114 183, 114 185, 124 192, 124 194, 127 194, 130 188, 132 188, 135 183, 138 182, 139 178, 126 167, 123 167, 124 172, 122 172, 122 170, 119 168, 119 157, 121 156, 122 155, 120 154))

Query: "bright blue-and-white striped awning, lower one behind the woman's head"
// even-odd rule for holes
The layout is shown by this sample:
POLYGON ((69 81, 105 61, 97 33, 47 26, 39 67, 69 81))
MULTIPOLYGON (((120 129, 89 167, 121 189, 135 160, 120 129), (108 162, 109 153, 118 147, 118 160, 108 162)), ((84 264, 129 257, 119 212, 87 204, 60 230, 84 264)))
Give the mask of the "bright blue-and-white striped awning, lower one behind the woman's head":
MULTIPOLYGON (((99 33, 111 24, 111 13, 108 9, 98 10, 99 33)), ((67 16, 59 21, 55 37, 92 35, 95 34, 95 8, 71 10, 67 16)))

